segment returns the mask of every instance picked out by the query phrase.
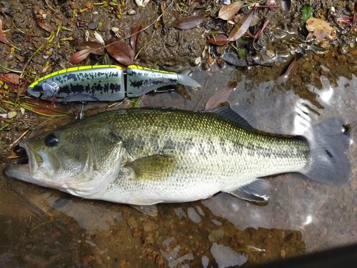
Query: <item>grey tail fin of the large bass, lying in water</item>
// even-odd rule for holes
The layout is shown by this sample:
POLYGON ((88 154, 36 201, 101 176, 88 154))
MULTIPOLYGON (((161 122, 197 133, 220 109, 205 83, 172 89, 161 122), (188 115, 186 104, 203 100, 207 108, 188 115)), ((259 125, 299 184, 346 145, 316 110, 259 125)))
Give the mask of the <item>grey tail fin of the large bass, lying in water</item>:
POLYGON ((350 139, 343 124, 341 118, 334 117, 303 134, 310 147, 308 163, 305 171, 301 172, 306 177, 331 185, 348 182, 351 164, 345 152, 350 139))

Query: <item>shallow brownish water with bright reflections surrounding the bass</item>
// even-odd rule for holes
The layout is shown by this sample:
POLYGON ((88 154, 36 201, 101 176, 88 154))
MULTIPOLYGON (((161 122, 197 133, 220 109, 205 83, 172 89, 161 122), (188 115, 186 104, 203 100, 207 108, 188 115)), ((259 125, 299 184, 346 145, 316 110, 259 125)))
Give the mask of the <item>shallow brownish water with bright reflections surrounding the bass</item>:
MULTIPOLYGON (((197 71, 193 78, 204 86, 188 89, 191 100, 170 92, 144 96, 141 106, 203 109, 216 90, 237 81, 228 101, 257 129, 302 134, 333 116, 356 125, 356 76, 331 81, 331 66, 320 68, 318 81, 298 84, 292 78, 290 90, 276 86, 274 69, 197 71)), ((221 193, 159 204, 153 218, 123 204, 1 177, 0 266, 245 267, 357 242, 355 140, 352 131, 348 184, 331 187, 300 174, 279 175, 270 179, 271 199, 264 207, 221 193)))

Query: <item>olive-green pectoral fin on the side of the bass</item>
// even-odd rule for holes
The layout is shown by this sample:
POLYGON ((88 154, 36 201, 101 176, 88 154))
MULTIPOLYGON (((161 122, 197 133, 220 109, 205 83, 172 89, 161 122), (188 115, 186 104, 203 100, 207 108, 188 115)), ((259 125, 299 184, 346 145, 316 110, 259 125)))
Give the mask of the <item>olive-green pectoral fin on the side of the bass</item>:
POLYGON ((134 179, 158 181, 168 177, 175 169, 174 156, 154 154, 150 157, 142 157, 125 164, 125 167, 134 171, 134 179))

